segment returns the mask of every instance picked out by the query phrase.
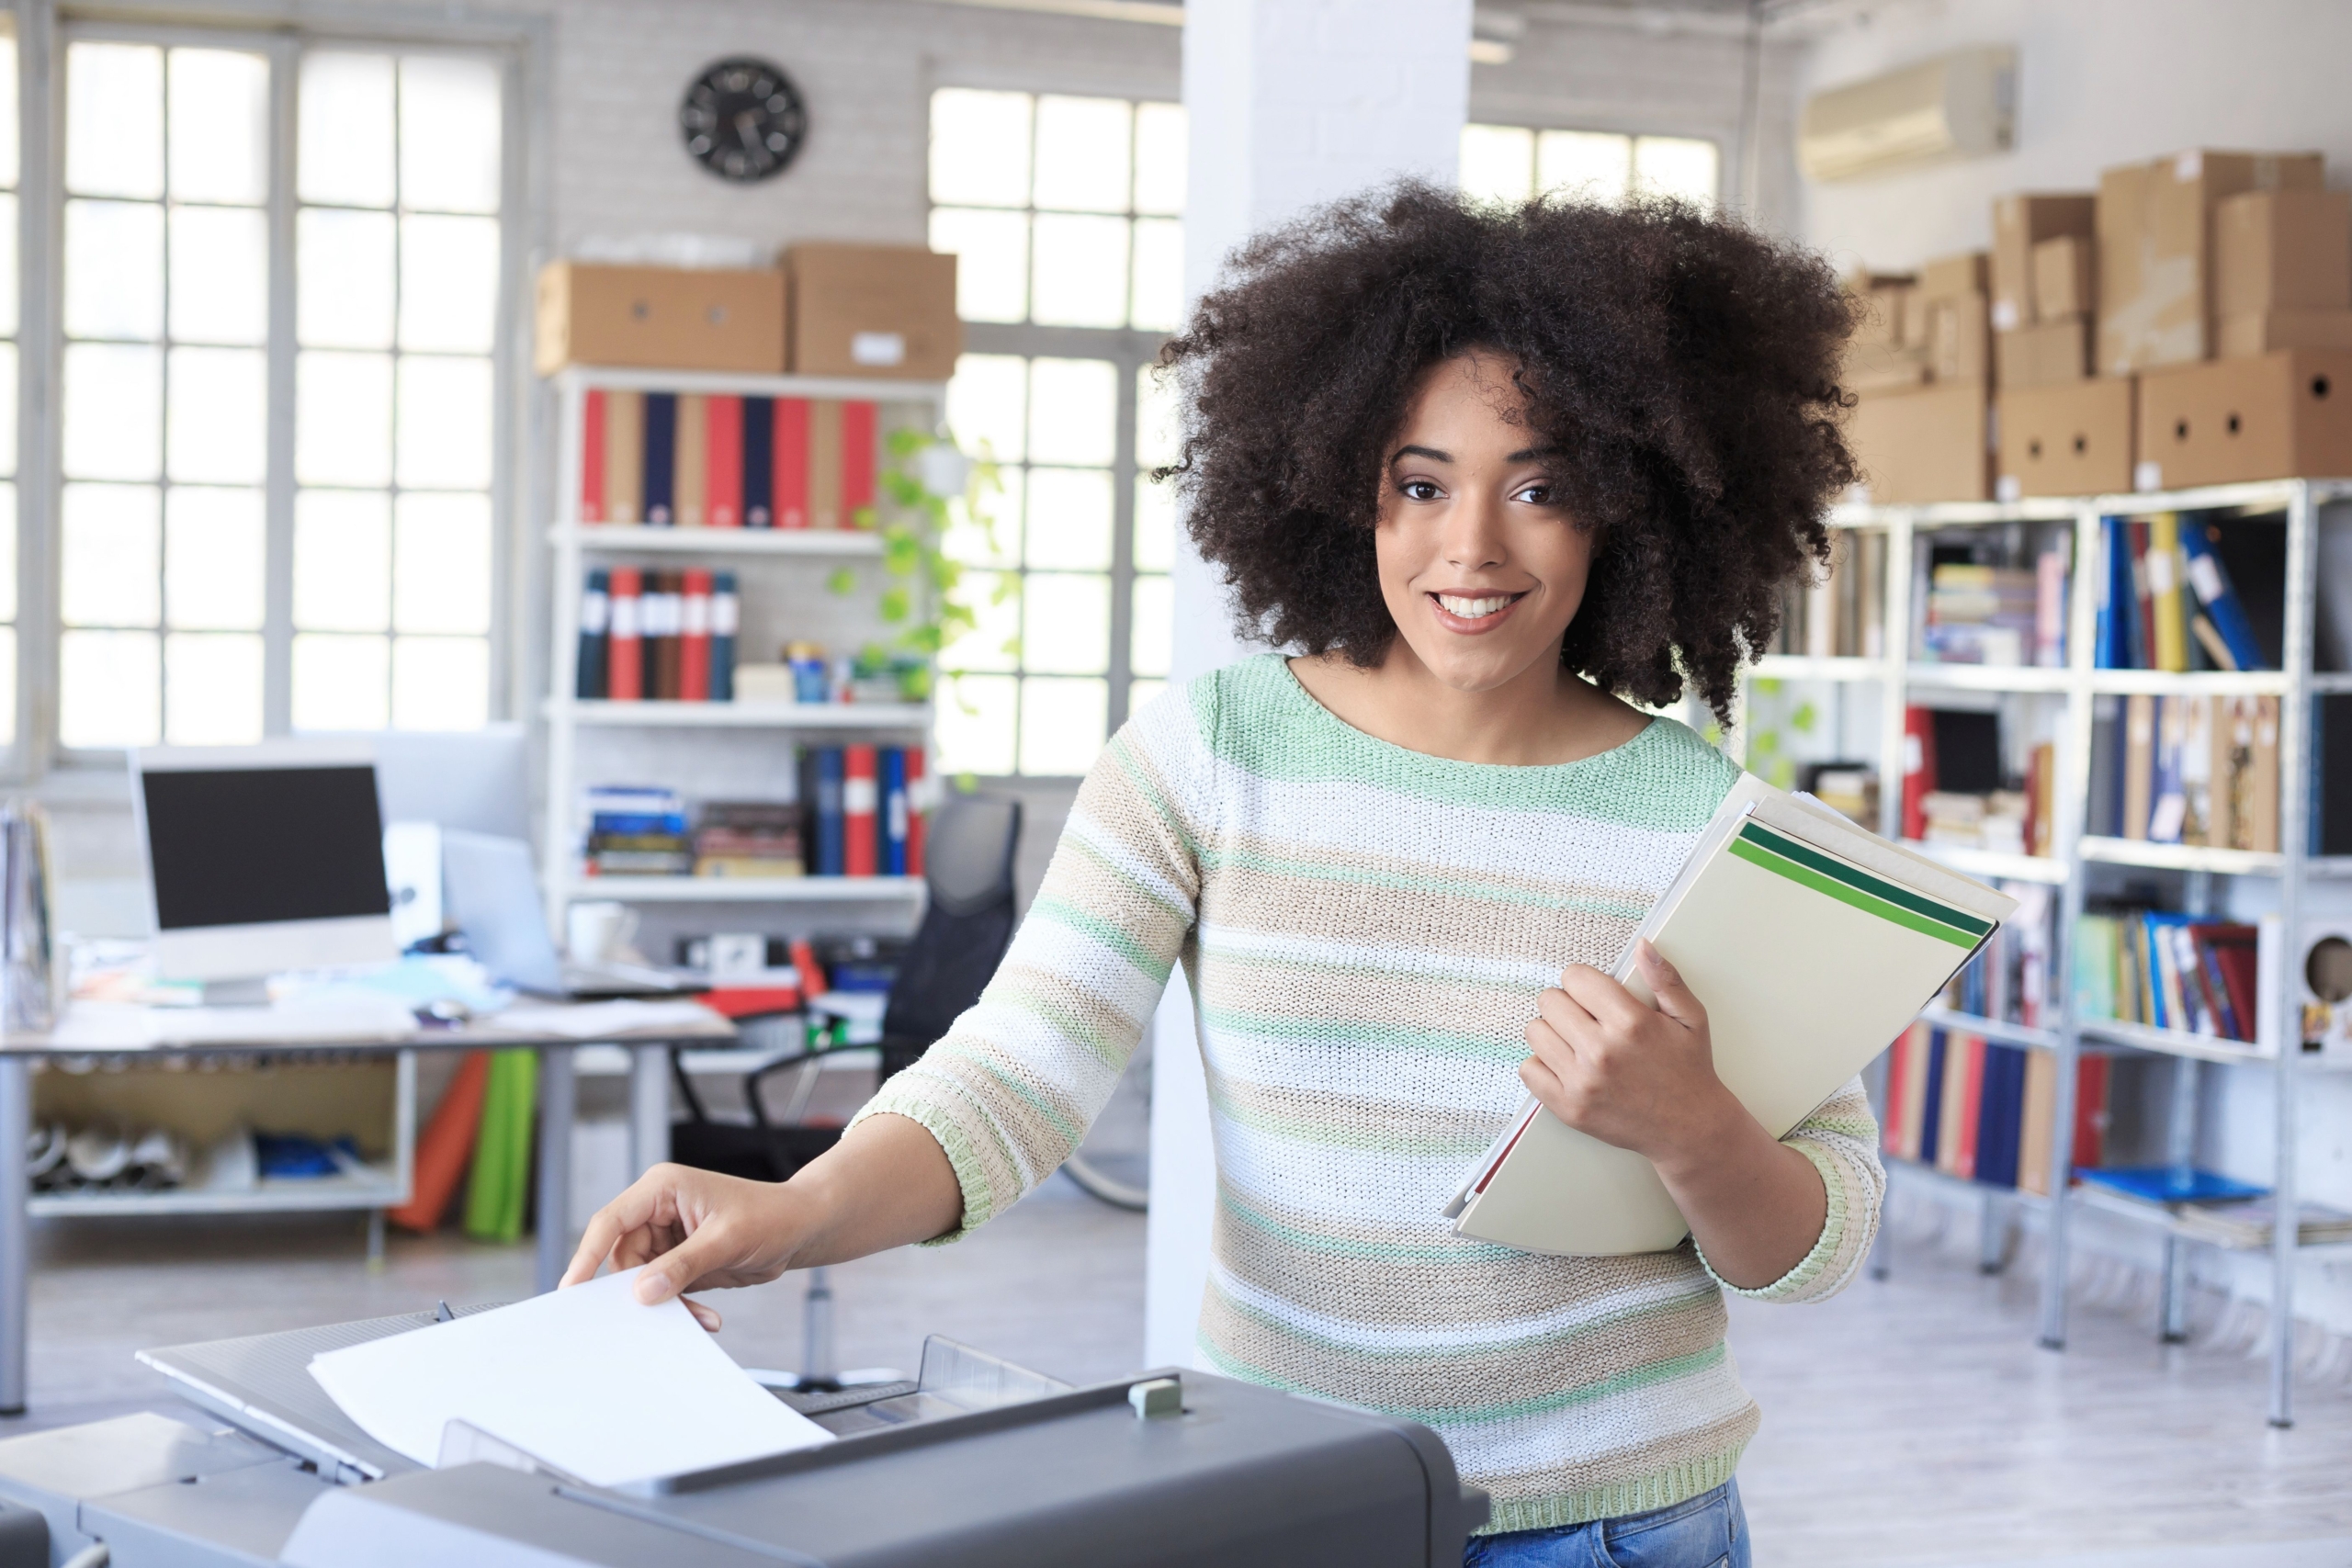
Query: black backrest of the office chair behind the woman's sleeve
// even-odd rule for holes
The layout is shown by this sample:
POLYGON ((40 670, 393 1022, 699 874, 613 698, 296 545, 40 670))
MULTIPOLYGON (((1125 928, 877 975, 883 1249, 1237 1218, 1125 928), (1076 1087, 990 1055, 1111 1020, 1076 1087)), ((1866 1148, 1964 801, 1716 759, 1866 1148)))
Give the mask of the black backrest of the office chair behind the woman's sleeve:
POLYGON ((1014 846, 1021 802, 950 795, 927 823, 922 926, 898 961, 882 1034, 929 1046, 981 999, 1014 940, 1014 846))

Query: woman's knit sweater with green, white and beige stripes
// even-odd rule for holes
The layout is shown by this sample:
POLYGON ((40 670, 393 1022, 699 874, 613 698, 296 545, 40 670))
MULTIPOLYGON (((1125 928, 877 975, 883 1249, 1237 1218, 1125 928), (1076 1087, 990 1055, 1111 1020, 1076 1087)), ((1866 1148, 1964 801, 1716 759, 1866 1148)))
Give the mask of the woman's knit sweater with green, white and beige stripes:
MULTIPOLYGON (((1616 961, 1733 778, 1672 719, 1562 766, 1425 757, 1279 656, 1228 665, 1112 738, 1004 966, 861 1117, 938 1138, 969 1232, 1080 1143, 1183 959, 1218 1168, 1207 1363, 1430 1425, 1489 1530, 1698 1495, 1759 1418, 1693 1244, 1541 1258, 1439 1208, 1519 1105, 1536 992, 1616 961)), ((1860 1084, 1788 1143, 1828 1222, 1743 1295, 1813 1300, 1877 1225, 1860 1084)))

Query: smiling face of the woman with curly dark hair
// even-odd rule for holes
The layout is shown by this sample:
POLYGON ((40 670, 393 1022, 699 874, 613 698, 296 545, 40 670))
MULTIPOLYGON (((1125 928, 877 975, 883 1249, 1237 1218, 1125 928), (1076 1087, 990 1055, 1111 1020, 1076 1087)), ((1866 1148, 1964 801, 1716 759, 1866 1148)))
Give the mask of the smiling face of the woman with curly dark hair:
POLYGON ((1592 571, 1592 534, 1562 505, 1559 454, 1515 423, 1510 362, 1428 369, 1381 470, 1381 597, 1404 649, 1456 691, 1557 668, 1592 571))

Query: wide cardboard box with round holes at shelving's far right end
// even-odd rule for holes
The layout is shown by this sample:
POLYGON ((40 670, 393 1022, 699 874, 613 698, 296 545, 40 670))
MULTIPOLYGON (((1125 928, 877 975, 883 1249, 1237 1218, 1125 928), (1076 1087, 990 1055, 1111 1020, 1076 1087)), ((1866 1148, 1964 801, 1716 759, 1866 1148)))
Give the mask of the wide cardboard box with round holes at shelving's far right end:
POLYGON ((2352 473, 2352 350, 2291 348, 2140 376, 2133 489, 2352 473))

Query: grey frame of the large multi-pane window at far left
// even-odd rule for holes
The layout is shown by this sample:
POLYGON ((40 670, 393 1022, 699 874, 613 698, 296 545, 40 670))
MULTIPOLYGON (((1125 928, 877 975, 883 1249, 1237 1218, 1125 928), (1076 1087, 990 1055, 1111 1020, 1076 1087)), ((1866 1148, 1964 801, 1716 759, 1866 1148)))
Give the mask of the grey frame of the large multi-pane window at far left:
MULTIPOLYGON (((122 778, 125 748, 66 748, 59 741, 59 604, 64 538, 64 216, 66 216, 66 85, 64 61, 73 42, 136 42, 155 47, 221 47, 270 61, 268 162, 270 190, 263 205, 270 247, 268 280, 268 433, 263 465, 263 741, 292 736, 294 651, 294 219, 296 115, 301 56, 306 49, 353 49, 367 54, 456 54, 489 61, 501 82, 499 148, 499 280, 496 327, 489 346, 489 691, 487 719, 517 710, 517 632, 532 618, 517 585, 522 571, 517 520, 529 503, 532 475, 517 433, 524 428, 529 369, 524 301, 529 261, 546 242, 541 188, 548 120, 546 56, 550 26, 541 19, 499 24, 447 24, 386 12, 353 12, 348 26, 256 28, 252 14, 172 7, 111 16, 103 12, 59 16, 54 0, 21 0, 16 19, 19 73, 19 463, 16 463, 16 733, 0 748, 0 776, 21 783, 59 780, 78 795, 75 780, 113 792, 101 778, 122 778)), ((397 494, 397 487, 388 487, 397 494)), ((386 630, 386 639, 390 639, 386 630)), ((122 785, 127 788, 127 785, 122 785)))

